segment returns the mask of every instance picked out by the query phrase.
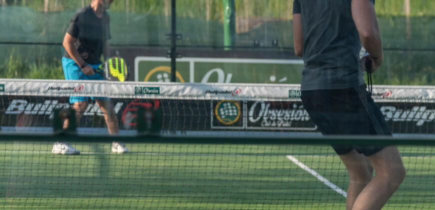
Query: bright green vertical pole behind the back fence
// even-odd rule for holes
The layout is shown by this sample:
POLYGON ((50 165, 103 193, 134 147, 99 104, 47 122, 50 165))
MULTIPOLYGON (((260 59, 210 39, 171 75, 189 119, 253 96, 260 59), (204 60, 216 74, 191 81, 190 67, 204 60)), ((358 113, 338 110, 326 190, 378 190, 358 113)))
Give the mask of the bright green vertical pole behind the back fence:
POLYGON ((223 45, 225 50, 231 49, 235 43, 235 3, 234 0, 223 2, 223 45))

